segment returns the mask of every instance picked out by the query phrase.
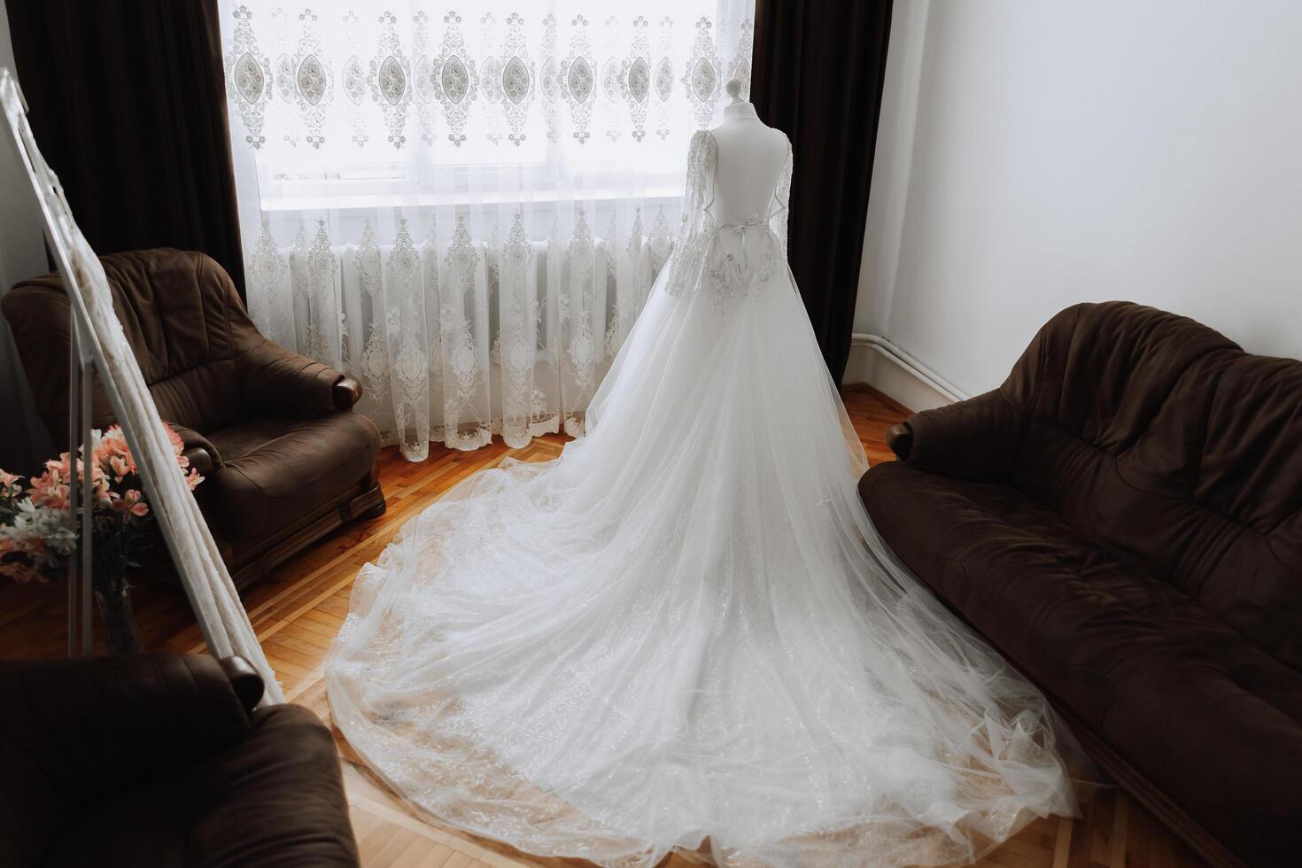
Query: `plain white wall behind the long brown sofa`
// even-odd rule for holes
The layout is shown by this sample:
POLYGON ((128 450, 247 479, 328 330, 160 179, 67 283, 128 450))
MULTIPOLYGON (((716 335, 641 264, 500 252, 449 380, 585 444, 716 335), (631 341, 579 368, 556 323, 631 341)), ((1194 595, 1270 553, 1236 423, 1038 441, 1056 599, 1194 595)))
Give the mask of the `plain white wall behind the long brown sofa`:
POLYGON ((1302 358, 1302 3, 896 4, 854 331, 976 394, 1112 298, 1302 358))

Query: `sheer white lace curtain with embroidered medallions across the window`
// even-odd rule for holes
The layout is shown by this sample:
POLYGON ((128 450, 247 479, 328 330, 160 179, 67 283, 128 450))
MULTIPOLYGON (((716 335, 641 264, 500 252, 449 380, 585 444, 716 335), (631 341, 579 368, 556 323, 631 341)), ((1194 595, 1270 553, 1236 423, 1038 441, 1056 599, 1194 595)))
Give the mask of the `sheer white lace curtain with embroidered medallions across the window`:
POLYGON ((223 0, 249 308, 430 440, 583 432, 754 0, 223 0))

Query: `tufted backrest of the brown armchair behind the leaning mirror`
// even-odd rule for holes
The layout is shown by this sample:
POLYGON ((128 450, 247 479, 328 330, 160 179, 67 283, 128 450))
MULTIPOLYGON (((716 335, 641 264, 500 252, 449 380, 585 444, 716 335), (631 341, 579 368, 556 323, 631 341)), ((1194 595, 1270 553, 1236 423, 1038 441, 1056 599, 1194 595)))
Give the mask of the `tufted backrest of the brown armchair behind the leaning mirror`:
MULTIPOLYGON (((240 414, 237 359, 262 341, 230 276, 201 252, 159 247, 102 256, 113 310, 159 415, 201 433, 240 414)), ((36 409, 68 441, 69 303, 57 273, 22 281, 0 307, 13 329, 36 409)), ((95 427, 113 419, 96 384, 95 427)))

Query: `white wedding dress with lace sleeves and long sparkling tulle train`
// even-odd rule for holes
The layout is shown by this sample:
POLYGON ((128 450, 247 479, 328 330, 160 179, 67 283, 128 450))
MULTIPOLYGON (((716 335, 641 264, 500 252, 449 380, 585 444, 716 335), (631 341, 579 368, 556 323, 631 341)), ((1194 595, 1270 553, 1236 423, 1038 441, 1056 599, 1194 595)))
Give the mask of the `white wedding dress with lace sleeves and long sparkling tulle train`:
POLYGON ((1044 699, 879 540, 863 450, 767 215, 676 252, 589 410, 413 519, 328 664, 365 760, 519 850, 652 865, 963 863, 1074 813, 1044 699), (708 837, 708 842, 706 838, 708 837))

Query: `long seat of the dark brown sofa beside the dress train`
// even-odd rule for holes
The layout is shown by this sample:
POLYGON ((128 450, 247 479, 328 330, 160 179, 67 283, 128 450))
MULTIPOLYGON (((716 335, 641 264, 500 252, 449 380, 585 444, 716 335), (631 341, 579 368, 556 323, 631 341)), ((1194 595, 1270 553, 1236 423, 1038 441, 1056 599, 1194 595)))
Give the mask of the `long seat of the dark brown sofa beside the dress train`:
POLYGON ((1012 485, 888 463, 859 491, 905 565, 1154 785, 1237 852, 1285 852, 1302 674, 1012 485))

